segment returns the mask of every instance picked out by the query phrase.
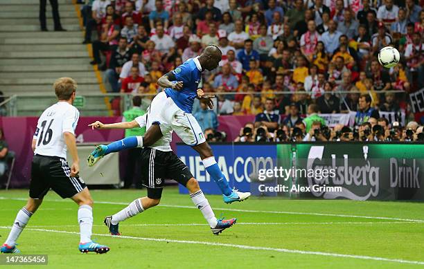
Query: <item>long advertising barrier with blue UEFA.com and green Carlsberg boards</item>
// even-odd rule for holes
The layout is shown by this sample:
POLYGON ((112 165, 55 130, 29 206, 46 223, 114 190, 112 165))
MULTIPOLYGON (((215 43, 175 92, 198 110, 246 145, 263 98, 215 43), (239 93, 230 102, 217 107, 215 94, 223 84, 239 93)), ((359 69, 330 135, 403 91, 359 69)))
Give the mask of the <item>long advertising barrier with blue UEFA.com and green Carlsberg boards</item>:
MULTIPOLYGON (((375 142, 211 145, 229 185, 256 196, 424 200, 424 144, 375 142)), ((207 194, 221 194, 198 154, 177 154, 207 194)), ((186 189, 179 187, 181 193, 186 189)))

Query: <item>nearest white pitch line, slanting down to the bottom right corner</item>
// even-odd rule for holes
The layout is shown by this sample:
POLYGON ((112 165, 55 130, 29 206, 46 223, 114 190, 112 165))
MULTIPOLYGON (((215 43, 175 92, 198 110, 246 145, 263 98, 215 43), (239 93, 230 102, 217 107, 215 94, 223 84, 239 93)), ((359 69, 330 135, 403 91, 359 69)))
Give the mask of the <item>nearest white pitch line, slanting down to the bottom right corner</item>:
MULTIPOLYGON (((6 226, 0 226, 0 228, 8 229, 6 226)), ((60 230, 46 230, 46 229, 31 229, 27 228, 26 230, 37 231, 37 232, 56 232, 62 234, 80 234, 79 232, 68 232, 60 230)), ((105 236, 105 237, 114 237, 121 239, 135 239, 143 241, 156 241, 156 242, 166 242, 166 243, 184 243, 184 244, 195 244, 195 245, 211 245, 211 246, 222 246, 228 248, 240 248, 244 250, 267 250, 274 252, 285 252, 292 254, 305 254, 305 255, 318 255, 318 256, 327 256, 327 257, 338 257, 338 258, 351 258, 351 259, 362 259, 362 260, 372 260, 372 261, 387 261, 392 263, 407 263, 407 264, 418 264, 424 265, 424 261, 409 261, 404 259, 388 259, 382 257, 372 257, 372 256, 362 256, 354 254, 339 254, 331 252, 319 252, 319 251, 308 251, 308 250, 289 250, 286 248, 267 248, 267 247, 258 247, 253 245, 236 245, 229 243, 216 243, 216 242, 207 242, 207 241, 189 241, 189 240, 176 240, 176 239, 166 239, 166 238, 148 238, 148 237, 137 237, 137 236, 112 236, 110 234, 93 234, 95 236, 105 236)))

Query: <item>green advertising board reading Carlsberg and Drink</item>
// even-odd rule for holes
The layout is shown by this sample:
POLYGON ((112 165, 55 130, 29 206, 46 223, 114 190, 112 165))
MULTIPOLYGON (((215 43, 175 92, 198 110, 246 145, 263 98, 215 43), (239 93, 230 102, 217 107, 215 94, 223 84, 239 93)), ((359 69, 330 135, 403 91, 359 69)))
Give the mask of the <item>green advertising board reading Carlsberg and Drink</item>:
POLYGON ((279 144, 278 195, 354 200, 424 200, 424 145, 373 143, 279 144), (293 188, 293 186, 295 186, 293 188))

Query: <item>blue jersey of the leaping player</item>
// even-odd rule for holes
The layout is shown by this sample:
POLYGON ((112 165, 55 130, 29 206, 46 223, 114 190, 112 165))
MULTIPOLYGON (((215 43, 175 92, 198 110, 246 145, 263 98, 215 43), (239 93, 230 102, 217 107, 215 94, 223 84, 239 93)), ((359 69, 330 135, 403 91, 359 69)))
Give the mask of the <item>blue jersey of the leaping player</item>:
POLYGON ((166 95, 173 98, 175 104, 186 113, 191 113, 193 109, 193 102, 197 96, 197 86, 202 78, 201 68, 197 57, 188 59, 173 71, 177 82, 183 82, 183 88, 179 91, 171 88, 165 89, 166 95))

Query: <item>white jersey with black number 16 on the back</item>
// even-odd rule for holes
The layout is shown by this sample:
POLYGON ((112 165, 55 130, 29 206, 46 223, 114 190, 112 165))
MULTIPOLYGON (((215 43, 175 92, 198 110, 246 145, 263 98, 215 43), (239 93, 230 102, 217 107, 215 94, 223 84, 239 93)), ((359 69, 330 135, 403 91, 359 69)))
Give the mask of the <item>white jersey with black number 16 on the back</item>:
POLYGON ((80 112, 67 102, 48 107, 38 119, 35 130, 35 154, 67 158, 67 145, 63 133, 75 134, 80 112))

